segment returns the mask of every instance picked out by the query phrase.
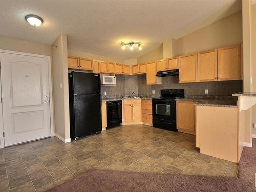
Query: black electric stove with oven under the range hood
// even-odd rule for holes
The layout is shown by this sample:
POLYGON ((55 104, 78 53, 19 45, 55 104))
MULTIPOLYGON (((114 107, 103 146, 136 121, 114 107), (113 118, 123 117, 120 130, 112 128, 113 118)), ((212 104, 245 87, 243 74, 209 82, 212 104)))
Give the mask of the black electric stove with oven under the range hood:
POLYGON ((184 98, 183 89, 161 90, 161 98, 152 99, 153 127, 178 131, 176 125, 176 100, 184 98))

